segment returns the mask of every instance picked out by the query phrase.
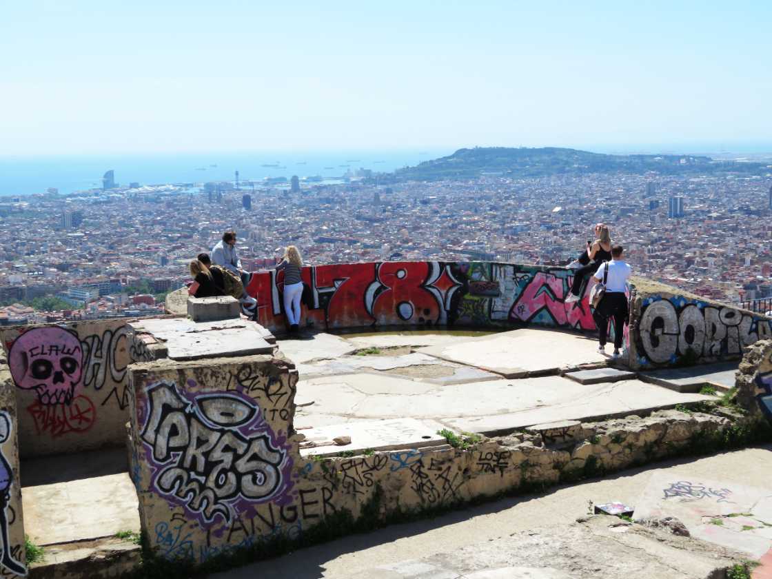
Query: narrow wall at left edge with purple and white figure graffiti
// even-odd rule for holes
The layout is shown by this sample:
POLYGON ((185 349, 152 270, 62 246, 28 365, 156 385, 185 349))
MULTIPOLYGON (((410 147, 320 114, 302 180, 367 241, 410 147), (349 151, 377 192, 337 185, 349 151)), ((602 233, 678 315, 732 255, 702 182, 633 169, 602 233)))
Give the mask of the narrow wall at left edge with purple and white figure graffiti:
POLYGON ((18 431, 11 371, 0 364, 0 577, 27 574, 18 431))

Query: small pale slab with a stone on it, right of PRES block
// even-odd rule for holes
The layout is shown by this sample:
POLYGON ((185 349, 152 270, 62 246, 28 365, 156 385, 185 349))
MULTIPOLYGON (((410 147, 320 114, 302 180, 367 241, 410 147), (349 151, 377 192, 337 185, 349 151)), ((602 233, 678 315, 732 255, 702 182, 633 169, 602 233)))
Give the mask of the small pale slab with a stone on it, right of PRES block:
POLYGON ((311 448, 301 448, 300 454, 336 455, 342 451, 361 452, 365 449, 418 449, 424 446, 444 445, 445 438, 437 434, 445 428, 433 420, 415 420, 415 418, 398 418, 396 420, 368 420, 349 422, 309 428, 301 431, 306 435, 306 442, 316 443, 311 448), (348 445, 334 445, 337 436, 350 436, 348 445))

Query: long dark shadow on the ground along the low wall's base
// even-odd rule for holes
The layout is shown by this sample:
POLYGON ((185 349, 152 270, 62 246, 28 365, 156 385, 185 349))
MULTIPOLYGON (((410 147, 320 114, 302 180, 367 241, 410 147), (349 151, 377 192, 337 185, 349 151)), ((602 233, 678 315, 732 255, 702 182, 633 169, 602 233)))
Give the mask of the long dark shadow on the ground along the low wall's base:
MULTIPOLYGON (((750 446, 747 448, 772 451, 772 444, 750 446)), ((723 454, 723 452, 716 453, 716 455, 720 454, 723 454)), ((390 527, 374 530, 371 533, 348 535, 347 537, 342 537, 330 541, 329 543, 321 543, 313 547, 306 547, 293 553, 283 555, 282 557, 277 557, 276 559, 262 560, 245 567, 237 567, 230 571, 210 574, 208 575, 208 579, 253 579, 254 577, 260 577, 260 579, 286 579, 286 577, 293 577, 293 579, 322 579, 324 577, 327 562, 345 554, 369 549, 371 547, 378 547, 378 545, 391 543, 406 537, 415 537, 422 533, 445 527, 446 525, 453 525, 455 523, 471 520, 476 516, 499 513, 510 509, 519 503, 526 503, 531 500, 540 499, 544 496, 557 493, 560 489, 565 489, 569 486, 581 486, 599 480, 608 481, 621 479, 628 476, 635 476, 647 470, 667 469, 672 466, 688 465, 692 462, 709 458, 709 456, 715 455, 689 456, 682 459, 653 462, 635 469, 615 472, 609 476, 585 479, 574 484, 553 486, 543 493, 530 493, 527 495, 507 497, 479 506, 469 506, 454 510, 432 519, 391 525, 390 527)))

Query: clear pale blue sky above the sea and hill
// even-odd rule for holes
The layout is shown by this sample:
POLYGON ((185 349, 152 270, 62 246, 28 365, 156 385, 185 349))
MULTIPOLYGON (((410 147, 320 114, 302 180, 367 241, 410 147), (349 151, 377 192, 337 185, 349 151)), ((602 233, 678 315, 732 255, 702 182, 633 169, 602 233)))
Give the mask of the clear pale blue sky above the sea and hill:
POLYGON ((8 0, 0 155, 772 150, 772 2, 8 0))

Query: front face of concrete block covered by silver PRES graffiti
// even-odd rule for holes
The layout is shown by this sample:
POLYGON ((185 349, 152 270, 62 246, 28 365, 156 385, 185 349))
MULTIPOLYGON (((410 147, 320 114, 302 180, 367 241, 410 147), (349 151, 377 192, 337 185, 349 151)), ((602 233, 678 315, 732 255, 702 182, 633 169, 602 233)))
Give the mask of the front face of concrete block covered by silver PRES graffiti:
POLYGON ((286 518, 296 381, 268 356, 131 367, 131 474, 143 529, 164 555, 206 558, 236 521, 286 518))

